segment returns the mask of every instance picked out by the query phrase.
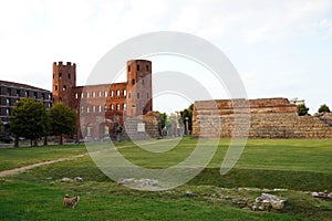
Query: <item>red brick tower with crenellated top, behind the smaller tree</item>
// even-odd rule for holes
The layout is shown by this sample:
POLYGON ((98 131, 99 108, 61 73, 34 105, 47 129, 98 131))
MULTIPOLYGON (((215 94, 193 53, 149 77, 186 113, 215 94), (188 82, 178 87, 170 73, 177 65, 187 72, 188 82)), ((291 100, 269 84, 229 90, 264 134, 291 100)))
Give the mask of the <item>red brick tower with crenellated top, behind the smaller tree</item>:
POLYGON ((72 87, 76 86, 76 64, 66 62, 53 63, 53 104, 63 102, 64 105, 73 108, 72 87))

